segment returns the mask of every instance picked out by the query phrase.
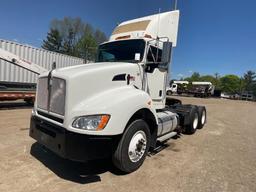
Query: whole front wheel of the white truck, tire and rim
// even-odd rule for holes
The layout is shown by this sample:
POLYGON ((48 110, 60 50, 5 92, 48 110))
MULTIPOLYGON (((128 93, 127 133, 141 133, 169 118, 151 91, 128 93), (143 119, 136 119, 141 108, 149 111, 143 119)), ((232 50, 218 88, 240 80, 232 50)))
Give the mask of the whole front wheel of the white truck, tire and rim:
POLYGON ((136 171, 149 150, 150 131, 142 120, 133 121, 125 130, 112 157, 113 164, 125 173, 136 171))

